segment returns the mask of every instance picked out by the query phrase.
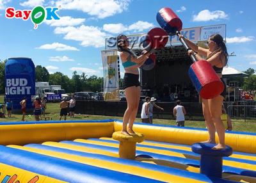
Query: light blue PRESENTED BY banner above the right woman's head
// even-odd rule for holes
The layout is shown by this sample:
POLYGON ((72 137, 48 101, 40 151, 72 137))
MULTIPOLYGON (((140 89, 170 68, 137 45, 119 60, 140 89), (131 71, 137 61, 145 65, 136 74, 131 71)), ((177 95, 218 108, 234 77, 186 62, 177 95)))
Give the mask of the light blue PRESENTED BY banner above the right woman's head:
POLYGON ((226 40, 226 25, 204 26, 201 27, 200 40, 208 40, 209 36, 219 34, 226 40))

